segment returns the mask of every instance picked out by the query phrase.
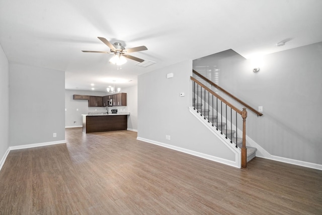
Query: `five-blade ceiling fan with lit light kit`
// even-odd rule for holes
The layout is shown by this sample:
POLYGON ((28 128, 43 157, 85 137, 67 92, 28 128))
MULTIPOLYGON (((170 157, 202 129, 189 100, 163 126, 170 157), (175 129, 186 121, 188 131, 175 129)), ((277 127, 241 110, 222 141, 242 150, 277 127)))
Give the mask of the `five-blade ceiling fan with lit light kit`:
POLYGON ((95 53, 109 53, 114 54, 114 56, 110 59, 110 62, 117 65, 122 65, 126 62, 126 58, 129 58, 131 60, 135 60, 138 62, 143 62, 144 60, 138 57, 134 57, 132 55, 129 55, 127 53, 136 52, 136 51, 144 51, 147 50, 145 46, 138 46, 134 48, 124 48, 121 43, 115 42, 114 45, 110 43, 107 39, 104 37, 98 37, 103 43, 105 43, 111 50, 108 51, 84 51, 83 52, 95 52, 95 53))

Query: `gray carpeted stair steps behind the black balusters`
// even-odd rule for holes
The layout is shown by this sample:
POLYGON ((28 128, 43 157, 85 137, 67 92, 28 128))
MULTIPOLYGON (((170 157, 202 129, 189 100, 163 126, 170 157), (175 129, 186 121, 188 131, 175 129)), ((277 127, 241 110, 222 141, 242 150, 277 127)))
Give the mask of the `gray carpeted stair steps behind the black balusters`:
MULTIPOLYGON (((211 123, 209 126, 212 126, 212 123, 213 123, 213 126, 216 127, 219 131, 221 131, 222 135, 225 135, 227 139, 230 139, 230 142, 233 143, 234 146, 241 149, 243 147, 243 138, 236 137, 235 130, 226 129, 226 122, 221 122, 219 120, 217 121, 217 116, 208 114, 210 113, 210 110, 203 108, 202 103, 198 103, 198 104, 195 103, 196 100, 197 99, 193 99, 193 106, 196 109, 196 111, 204 117, 206 121, 211 123)), ((248 147, 248 146, 246 146, 246 149, 247 149, 247 162, 249 162, 256 157, 257 149, 254 147, 248 147)))

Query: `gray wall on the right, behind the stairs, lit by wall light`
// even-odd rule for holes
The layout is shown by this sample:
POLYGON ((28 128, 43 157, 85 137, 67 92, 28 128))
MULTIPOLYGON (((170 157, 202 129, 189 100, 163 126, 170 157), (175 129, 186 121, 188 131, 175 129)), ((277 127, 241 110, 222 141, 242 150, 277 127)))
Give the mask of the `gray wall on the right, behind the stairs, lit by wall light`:
POLYGON ((222 56, 195 60, 194 68, 216 65, 219 86, 263 106, 262 117, 248 112, 247 134, 273 156, 322 164, 322 43, 265 55, 258 73, 252 60, 222 56))

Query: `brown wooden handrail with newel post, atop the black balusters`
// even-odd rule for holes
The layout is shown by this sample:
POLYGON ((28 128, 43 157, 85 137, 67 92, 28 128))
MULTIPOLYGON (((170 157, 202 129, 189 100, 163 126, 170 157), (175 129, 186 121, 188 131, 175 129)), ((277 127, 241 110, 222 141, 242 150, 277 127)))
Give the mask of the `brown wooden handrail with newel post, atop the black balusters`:
POLYGON ((218 98, 220 101, 222 101, 224 104, 228 105, 231 109, 236 111, 242 118, 243 118, 243 147, 241 147, 241 168, 247 168, 247 149, 246 149, 246 118, 247 118, 247 111, 246 108, 243 108, 243 110, 239 110, 234 105, 232 105, 230 102, 219 96, 217 93, 212 91, 210 88, 199 82, 194 77, 190 76, 190 79, 200 85, 202 88, 207 90, 210 94, 218 98))

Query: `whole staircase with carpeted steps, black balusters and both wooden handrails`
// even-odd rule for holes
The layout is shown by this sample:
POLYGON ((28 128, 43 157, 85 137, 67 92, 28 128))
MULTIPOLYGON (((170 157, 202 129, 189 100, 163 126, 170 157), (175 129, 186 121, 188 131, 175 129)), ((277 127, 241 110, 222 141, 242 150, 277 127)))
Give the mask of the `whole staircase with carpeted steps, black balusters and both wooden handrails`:
POLYGON ((230 143, 234 144, 234 147, 240 148, 241 168, 247 168, 247 162, 256 156, 257 149, 246 146, 246 118, 248 114, 246 108, 257 114, 257 116, 262 116, 263 114, 197 71, 193 70, 193 74, 196 76, 196 78, 190 77, 193 83, 193 111, 196 111, 204 120, 207 120, 207 125, 216 127, 216 130, 220 131, 221 135, 224 135, 226 139, 230 139, 230 143), (212 87, 215 88, 216 92, 222 92, 226 98, 233 99, 234 102, 243 105, 243 110, 238 109, 223 96, 214 92, 212 87), (240 129, 237 129, 237 125, 240 129), (237 130, 234 130, 234 127, 237 130))

